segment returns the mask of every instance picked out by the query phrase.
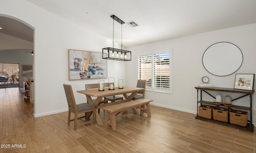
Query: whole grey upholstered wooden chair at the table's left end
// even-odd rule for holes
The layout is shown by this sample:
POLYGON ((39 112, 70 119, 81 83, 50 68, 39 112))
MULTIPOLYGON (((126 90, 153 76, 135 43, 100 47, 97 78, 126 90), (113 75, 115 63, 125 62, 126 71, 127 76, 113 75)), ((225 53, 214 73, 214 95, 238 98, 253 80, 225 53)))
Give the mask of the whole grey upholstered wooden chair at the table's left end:
POLYGON ((82 126, 84 124, 92 123, 95 124, 95 106, 88 103, 82 103, 82 104, 76 104, 74 93, 72 90, 71 85, 69 84, 63 84, 67 102, 68 102, 68 125, 70 125, 70 122, 74 121, 74 130, 76 130, 77 126, 82 126), (89 112, 92 112, 92 120, 87 121, 86 114, 89 114, 89 112), (75 117, 74 119, 70 120, 71 113, 74 113, 75 117), (78 118, 78 114, 84 113, 84 116, 78 118), (82 118, 85 118, 85 120, 82 120, 82 118), (78 124, 77 121, 81 120, 82 123, 78 124))

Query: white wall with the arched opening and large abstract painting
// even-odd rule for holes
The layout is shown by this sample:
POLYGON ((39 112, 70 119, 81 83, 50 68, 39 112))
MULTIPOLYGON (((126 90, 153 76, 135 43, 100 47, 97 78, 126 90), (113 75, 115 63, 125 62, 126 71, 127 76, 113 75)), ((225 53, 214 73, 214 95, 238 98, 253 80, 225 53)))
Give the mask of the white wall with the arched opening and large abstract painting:
MULTIPOLYGON (((68 49, 102 52, 112 41, 26 0, 0 0, 0 4, 0 15, 19 19, 34 29, 34 116, 67 111, 63 83, 72 85, 78 104, 85 102, 76 90, 98 79, 68 81, 68 49)), ((127 80, 125 67, 126 62, 108 61, 108 77, 127 80)))

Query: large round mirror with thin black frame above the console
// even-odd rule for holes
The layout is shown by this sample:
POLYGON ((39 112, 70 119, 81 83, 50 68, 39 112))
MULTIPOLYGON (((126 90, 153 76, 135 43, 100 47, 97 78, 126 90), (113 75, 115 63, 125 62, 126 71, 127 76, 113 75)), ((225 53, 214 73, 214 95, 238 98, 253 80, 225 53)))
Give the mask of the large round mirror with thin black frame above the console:
POLYGON ((235 73, 243 62, 242 51, 233 43, 214 43, 204 52, 203 65, 206 71, 216 76, 235 73))

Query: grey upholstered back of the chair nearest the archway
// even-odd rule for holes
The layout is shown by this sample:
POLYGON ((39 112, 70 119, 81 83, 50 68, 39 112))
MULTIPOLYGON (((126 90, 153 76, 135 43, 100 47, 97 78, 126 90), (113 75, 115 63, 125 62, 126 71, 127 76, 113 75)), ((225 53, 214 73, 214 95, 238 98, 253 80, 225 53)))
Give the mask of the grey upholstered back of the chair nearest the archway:
POLYGON ((73 107, 76 112, 77 111, 76 100, 74 97, 72 87, 69 84, 63 84, 63 86, 64 86, 64 90, 65 90, 65 94, 68 102, 68 108, 73 107))

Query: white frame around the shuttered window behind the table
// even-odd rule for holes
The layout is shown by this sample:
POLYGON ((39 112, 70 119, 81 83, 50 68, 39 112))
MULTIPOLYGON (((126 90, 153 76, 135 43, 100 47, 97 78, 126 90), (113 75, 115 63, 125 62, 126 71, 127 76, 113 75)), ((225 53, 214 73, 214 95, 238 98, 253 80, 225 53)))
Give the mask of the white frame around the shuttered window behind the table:
POLYGON ((163 51, 158 51, 158 52, 148 52, 148 53, 140 53, 138 55, 138 79, 140 79, 140 56, 147 56, 147 55, 151 55, 151 80, 152 80, 152 86, 148 87, 146 86, 146 90, 148 91, 152 91, 152 92, 161 92, 161 93, 166 93, 166 94, 172 94, 172 49, 170 50, 163 50, 163 51), (163 53, 169 53, 170 58, 169 58, 169 75, 170 75, 170 79, 169 79, 169 90, 168 89, 162 89, 162 88, 154 88, 154 55, 156 54, 163 54, 163 53))

